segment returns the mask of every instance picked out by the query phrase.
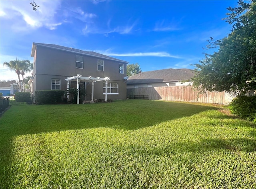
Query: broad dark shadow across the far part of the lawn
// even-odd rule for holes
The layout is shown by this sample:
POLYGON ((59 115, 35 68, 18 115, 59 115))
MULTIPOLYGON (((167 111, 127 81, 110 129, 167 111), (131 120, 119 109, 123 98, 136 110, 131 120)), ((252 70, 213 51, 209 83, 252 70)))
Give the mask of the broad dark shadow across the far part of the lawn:
POLYGON ((213 109, 218 108, 152 100, 15 106, 1 118, 1 131, 15 136, 98 127, 136 130, 213 109))

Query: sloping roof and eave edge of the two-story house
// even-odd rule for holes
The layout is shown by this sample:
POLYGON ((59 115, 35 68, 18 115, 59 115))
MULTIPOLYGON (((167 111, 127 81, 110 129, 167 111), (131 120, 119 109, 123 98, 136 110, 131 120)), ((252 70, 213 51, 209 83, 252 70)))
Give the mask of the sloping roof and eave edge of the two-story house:
POLYGON ((59 49, 59 50, 62 50, 62 51, 69 51, 69 52, 73 52, 73 53, 79 53, 79 54, 83 54, 83 55, 87 55, 87 56, 93 56, 93 57, 99 57, 99 58, 119 61, 119 62, 123 62, 123 63, 126 63, 126 64, 129 63, 127 61, 123 61, 123 60, 120 60, 120 59, 116 59, 116 58, 113 58, 113 57, 102 55, 100 53, 96 53, 96 52, 93 52, 93 51, 82 51, 82 50, 79 50, 79 49, 74 49, 72 47, 64 47, 64 46, 60 46, 60 45, 53 45, 53 44, 46 44, 46 43, 33 43, 32 44, 32 51, 31 51, 31 56, 32 57, 34 57, 34 53, 35 53, 37 45, 40 45, 42 47, 52 48, 52 49, 59 49))

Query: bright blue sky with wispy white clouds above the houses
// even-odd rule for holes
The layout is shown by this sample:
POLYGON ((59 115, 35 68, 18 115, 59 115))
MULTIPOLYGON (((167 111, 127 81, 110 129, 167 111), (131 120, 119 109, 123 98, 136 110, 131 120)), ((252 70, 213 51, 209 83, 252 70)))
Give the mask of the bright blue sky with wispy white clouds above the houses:
MULTIPOLYGON (((138 63, 142 71, 189 68, 204 58, 207 39, 230 33, 237 1, 0 1, 0 80, 17 79, 5 61, 28 59, 32 42, 95 51, 138 63)), ((216 49, 217 50, 217 49, 216 49)), ((215 51, 216 51, 215 50, 215 51)), ((30 74, 26 74, 29 76, 30 74)))

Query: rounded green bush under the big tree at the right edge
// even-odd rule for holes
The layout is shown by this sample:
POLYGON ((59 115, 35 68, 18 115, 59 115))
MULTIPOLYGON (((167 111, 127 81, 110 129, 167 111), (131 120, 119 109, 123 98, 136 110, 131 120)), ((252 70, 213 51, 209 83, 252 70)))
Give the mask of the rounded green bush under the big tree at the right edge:
POLYGON ((238 96, 232 100, 228 108, 240 118, 256 123, 256 96, 238 96))

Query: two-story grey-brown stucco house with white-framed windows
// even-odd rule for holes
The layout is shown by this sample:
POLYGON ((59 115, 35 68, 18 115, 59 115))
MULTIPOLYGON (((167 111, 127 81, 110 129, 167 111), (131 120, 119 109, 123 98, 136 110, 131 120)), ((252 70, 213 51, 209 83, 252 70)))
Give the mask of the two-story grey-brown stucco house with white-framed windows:
POLYGON ((31 56, 34 57, 34 71, 31 92, 36 90, 67 90, 85 88, 84 100, 126 99, 127 61, 102 55, 92 51, 64 47, 60 45, 33 43, 31 56), (73 76, 74 79, 70 80, 73 76), (107 85, 106 85, 107 83, 107 85), (106 89, 107 87, 107 89, 106 89), (92 90, 93 89, 93 90, 92 90), (107 91, 107 93, 106 93, 107 91))

